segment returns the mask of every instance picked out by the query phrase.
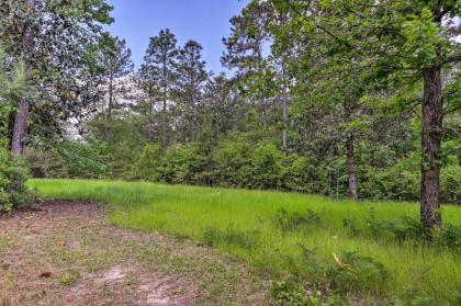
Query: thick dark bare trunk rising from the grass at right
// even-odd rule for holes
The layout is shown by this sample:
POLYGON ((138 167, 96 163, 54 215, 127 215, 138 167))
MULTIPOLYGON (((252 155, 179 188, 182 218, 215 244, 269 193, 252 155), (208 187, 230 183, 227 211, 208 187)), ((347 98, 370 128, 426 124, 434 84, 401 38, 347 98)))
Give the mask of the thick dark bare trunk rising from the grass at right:
POLYGON ((420 217, 421 224, 430 229, 441 226, 439 161, 443 112, 440 68, 425 69, 423 77, 420 217))

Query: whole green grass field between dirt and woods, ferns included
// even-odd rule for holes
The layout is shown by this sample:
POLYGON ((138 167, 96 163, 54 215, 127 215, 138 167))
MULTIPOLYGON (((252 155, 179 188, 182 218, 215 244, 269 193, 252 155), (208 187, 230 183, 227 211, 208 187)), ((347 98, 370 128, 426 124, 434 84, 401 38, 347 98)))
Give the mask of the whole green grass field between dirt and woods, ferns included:
MULTIPOLYGON (((318 286, 327 279, 339 290, 389 301, 460 301, 460 253, 398 240, 383 226, 403 216, 416 219, 414 203, 117 181, 32 180, 29 185, 43 197, 110 203, 116 225, 192 238, 273 279, 293 274, 318 286), (348 261, 347 251, 361 260, 348 261), (380 265, 370 262, 382 263, 387 273, 381 277, 380 265)), ((442 216, 445 224, 461 226, 461 207, 445 206, 442 216)), ((404 227, 397 223, 394 229, 404 227)))

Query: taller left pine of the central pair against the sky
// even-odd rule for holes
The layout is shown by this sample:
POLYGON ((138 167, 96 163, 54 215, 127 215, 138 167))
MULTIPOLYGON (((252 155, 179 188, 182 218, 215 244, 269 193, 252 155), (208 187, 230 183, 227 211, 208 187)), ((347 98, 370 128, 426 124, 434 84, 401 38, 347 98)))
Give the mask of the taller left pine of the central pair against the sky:
MULTIPOLYGON (((178 49, 177 39, 168 29, 161 30, 158 36, 150 37, 149 46, 139 70, 143 88, 148 99, 162 103, 161 106, 161 144, 168 146, 168 102, 172 100, 178 49)), ((153 106, 154 109, 154 106, 153 106)))

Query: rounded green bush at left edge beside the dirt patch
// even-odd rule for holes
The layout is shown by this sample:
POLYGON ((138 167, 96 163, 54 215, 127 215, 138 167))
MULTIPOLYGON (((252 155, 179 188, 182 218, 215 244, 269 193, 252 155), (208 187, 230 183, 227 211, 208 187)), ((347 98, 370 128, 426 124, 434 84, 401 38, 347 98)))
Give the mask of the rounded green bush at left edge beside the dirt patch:
POLYGON ((10 212, 34 200, 25 186, 29 169, 21 158, 11 158, 7 149, 0 148, 0 212, 10 212))

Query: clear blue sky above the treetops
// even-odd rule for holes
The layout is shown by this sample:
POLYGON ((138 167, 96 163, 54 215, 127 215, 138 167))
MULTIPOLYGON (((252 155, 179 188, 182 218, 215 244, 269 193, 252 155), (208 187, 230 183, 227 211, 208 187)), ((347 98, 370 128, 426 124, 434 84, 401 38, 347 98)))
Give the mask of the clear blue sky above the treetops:
POLYGON ((209 70, 225 71, 221 66, 222 38, 231 33, 229 19, 249 0, 109 0, 115 22, 108 30, 126 41, 133 61, 143 63, 149 37, 170 29, 182 46, 194 39, 203 46, 209 70))

